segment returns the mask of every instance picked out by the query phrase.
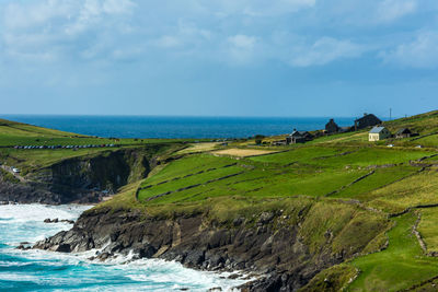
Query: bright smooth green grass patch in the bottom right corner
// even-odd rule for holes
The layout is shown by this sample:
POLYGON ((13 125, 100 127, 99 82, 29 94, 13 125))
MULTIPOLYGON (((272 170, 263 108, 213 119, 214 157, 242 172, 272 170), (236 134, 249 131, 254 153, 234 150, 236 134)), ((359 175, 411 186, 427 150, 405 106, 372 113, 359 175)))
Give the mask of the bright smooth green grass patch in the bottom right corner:
POLYGON ((426 257, 412 234, 416 215, 407 213, 394 219, 389 233, 389 247, 380 253, 355 259, 360 270, 349 291, 399 291, 438 275, 438 258, 426 257))

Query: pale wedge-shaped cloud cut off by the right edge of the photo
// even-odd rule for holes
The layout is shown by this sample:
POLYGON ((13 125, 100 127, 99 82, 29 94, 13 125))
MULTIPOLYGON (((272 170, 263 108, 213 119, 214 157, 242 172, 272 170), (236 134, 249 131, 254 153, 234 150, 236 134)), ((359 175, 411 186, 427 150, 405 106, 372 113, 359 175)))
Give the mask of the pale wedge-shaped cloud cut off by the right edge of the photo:
POLYGON ((380 57, 387 63, 403 67, 438 68, 438 33, 422 32, 413 42, 399 45, 390 51, 382 51, 380 57))

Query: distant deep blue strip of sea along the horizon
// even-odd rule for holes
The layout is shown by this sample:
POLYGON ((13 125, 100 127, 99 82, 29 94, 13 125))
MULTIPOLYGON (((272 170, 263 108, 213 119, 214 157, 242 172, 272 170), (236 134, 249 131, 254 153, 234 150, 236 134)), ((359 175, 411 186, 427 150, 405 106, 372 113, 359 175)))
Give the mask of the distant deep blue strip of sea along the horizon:
MULTIPOLYGON (((118 138, 246 138, 323 129, 327 117, 147 117, 147 116, 35 116, 0 115, 41 127, 100 137, 118 138)), ((353 126, 355 118, 336 118, 339 126, 353 126)))

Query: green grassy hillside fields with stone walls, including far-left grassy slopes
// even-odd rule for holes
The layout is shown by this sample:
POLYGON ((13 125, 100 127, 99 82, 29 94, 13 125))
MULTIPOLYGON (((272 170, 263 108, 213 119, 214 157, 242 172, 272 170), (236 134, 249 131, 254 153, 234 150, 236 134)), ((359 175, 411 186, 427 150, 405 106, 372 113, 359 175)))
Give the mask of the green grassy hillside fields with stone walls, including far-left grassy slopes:
MULTIPOLYGON (((348 254, 358 246, 365 252, 353 253, 348 261, 322 271, 303 291, 428 287, 428 281, 438 277, 438 112, 385 126, 392 132, 407 127, 419 136, 368 142, 368 130, 362 130, 288 147, 255 147, 254 141, 188 144, 149 177, 126 186, 96 208, 134 208, 169 218, 205 212, 211 220, 230 225, 237 217, 253 220, 267 210, 280 210, 288 218, 286 223, 296 225, 300 210, 311 210, 300 221, 299 231, 309 246, 319 248, 330 233, 334 254, 348 254), (389 143, 394 147, 387 147, 389 143), (240 155, 239 149, 251 149, 251 155, 240 155), (339 227, 351 218, 348 227, 339 227), (371 236, 370 229, 379 235, 371 236)), ((30 139, 26 142, 43 135, 53 141, 96 139, 32 127, 35 136, 24 138, 20 136, 22 127, 28 129, 0 126, 0 142, 11 144, 8 136, 16 141, 30 139)), ((134 142, 141 143, 120 143, 134 142)), ((1 155, 24 166, 90 151, 101 150, 66 150, 48 157, 47 150, 27 155, 31 152, 8 148, 1 155)))

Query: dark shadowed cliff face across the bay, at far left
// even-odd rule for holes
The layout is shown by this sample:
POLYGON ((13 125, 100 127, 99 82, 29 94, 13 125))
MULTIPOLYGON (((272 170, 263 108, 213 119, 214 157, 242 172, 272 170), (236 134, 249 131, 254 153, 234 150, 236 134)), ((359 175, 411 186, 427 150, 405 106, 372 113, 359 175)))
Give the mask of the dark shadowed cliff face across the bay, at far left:
POLYGON ((146 177, 153 167, 153 151, 122 149, 93 156, 60 161, 10 182, 0 174, 0 200, 21 203, 97 202, 102 196, 146 177))

